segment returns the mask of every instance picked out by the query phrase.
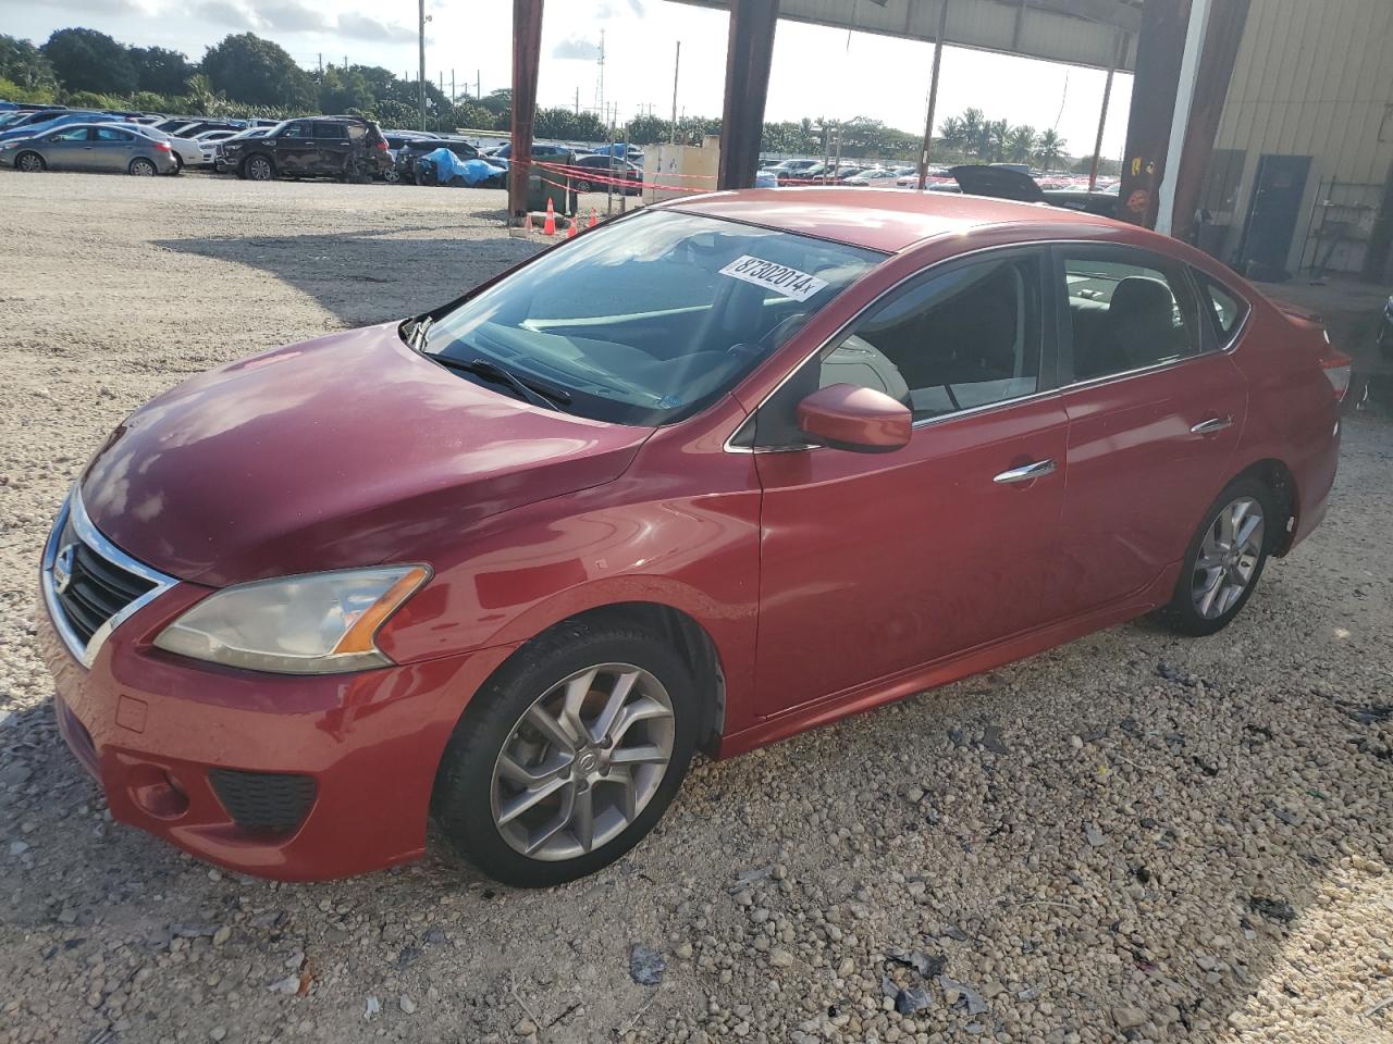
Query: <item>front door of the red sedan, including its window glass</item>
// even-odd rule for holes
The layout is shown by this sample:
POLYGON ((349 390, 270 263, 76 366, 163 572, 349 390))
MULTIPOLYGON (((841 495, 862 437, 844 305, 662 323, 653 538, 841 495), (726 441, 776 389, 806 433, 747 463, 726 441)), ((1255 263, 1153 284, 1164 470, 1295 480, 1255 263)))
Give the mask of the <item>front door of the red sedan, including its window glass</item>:
POLYGON ((1067 440, 1043 258, 996 251, 925 273, 756 412, 761 714, 1039 622, 1067 440), (908 405, 910 444, 800 448, 797 402, 829 384, 908 405))

